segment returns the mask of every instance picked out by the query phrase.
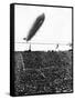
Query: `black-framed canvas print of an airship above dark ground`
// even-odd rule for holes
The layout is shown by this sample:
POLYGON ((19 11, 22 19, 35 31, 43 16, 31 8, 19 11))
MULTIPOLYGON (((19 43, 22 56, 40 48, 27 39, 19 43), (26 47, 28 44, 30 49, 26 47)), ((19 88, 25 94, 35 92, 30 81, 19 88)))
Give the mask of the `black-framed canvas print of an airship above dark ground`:
POLYGON ((73 92, 73 8, 10 4, 10 94, 73 92))

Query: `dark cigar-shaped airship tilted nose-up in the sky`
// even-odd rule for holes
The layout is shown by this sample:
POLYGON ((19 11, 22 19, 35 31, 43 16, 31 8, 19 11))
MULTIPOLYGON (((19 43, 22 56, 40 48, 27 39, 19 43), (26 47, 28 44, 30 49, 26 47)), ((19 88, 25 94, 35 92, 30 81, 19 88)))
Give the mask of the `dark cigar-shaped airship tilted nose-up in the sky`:
POLYGON ((38 30, 41 28, 41 26, 43 24, 44 19, 45 19, 45 14, 44 14, 44 13, 40 14, 40 16, 35 19, 33 26, 31 27, 31 29, 30 29, 30 31, 29 31, 29 33, 28 33, 28 37, 26 37, 26 38, 23 38, 23 40, 26 40, 26 41, 31 40, 32 37, 36 33, 36 31, 38 31, 38 30))

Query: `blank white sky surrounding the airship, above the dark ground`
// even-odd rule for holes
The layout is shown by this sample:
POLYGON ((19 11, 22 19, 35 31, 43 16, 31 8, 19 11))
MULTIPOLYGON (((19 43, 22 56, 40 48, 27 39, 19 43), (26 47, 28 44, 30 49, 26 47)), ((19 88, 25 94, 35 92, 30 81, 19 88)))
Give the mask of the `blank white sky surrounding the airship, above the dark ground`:
MULTIPOLYGON (((45 20, 31 42, 38 43, 69 43, 72 42, 72 9, 15 6, 14 41, 24 42, 35 19, 44 13, 45 20)), ((54 46, 52 46, 54 48, 54 46)), ((32 44, 32 50, 50 50, 51 46, 32 44), (49 48, 47 48, 49 47, 49 48)), ((15 43, 15 50, 28 50, 29 44, 15 43)), ((64 48, 65 49, 65 48, 64 48)))

